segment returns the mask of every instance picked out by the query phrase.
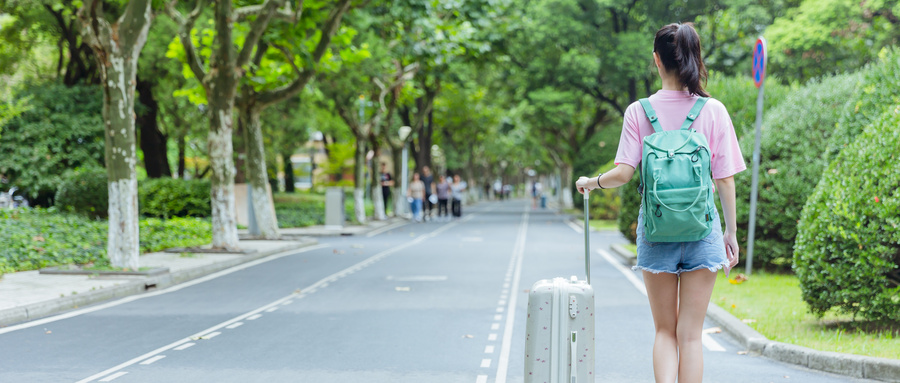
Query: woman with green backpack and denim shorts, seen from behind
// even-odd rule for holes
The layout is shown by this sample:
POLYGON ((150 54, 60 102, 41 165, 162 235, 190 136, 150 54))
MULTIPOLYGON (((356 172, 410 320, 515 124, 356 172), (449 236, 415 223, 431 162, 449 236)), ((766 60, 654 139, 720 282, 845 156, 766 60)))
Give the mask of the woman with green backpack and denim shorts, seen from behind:
POLYGON ((733 176, 746 166, 728 111, 703 89, 706 68, 693 25, 656 32, 653 60, 662 89, 625 111, 616 167, 575 186, 582 193, 622 186, 640 164, 634 269, 644 274, 656 327, 653 373, 657 383, 696 383, 703 380, 700 337, 716 272, 738 262, 733 176))

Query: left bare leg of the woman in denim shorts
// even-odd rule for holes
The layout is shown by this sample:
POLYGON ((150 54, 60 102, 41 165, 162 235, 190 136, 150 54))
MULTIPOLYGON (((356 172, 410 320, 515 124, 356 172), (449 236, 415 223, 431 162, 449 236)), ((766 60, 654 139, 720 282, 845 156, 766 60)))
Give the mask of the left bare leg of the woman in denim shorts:
POLYGON ((675 383, 678 374, 678 276, 644 272, 650 312, 656 326, 653 342, 653 375, 656 383, 675 383))

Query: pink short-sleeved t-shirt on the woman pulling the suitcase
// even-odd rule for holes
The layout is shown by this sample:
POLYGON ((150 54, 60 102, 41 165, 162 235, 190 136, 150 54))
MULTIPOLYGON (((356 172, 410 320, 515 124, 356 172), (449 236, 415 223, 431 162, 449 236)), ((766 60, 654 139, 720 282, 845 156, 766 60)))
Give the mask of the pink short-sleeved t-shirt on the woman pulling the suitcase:
MULTIPOLYGON (((650 96, 650 105, 656 111, 662 129, 675 130, 681 129, 697 98, 699 96, 691 96, 687 91, 660 90, 650 96)), ((653 126, 637 101, 625 110, 624 120, 616 165, 626 164, 637 169, 643 154, 644 137, 653 134, 653 126)), ((728 178, 747 169, 731 117, 719 100, 710 98, 691 128, 703 133, 709 142, 713 179, 728 178)))

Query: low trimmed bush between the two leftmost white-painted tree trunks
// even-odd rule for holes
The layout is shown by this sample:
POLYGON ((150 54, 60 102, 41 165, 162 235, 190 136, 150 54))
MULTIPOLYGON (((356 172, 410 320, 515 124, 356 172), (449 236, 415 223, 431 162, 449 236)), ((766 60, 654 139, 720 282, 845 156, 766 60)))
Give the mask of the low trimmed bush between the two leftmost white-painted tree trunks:
POLYGON ((147 217, 209 217, 209 180, 150 178, 138 185, 141 214, 147 217))

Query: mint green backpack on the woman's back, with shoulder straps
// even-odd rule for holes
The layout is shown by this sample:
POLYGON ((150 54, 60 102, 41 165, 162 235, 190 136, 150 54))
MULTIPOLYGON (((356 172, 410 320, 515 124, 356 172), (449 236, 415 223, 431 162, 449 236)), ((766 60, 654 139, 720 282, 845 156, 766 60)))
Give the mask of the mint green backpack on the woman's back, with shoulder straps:
POLYGON ((712 231, 716 204, 709 143, 706 136, 691 129, 707 100, 698 99, 681 129, 671 131, 662 130, 650 100, 640 101, 655 131, 644 137, 641 158, 641 208, 647 241, 694 242, 712 231))

